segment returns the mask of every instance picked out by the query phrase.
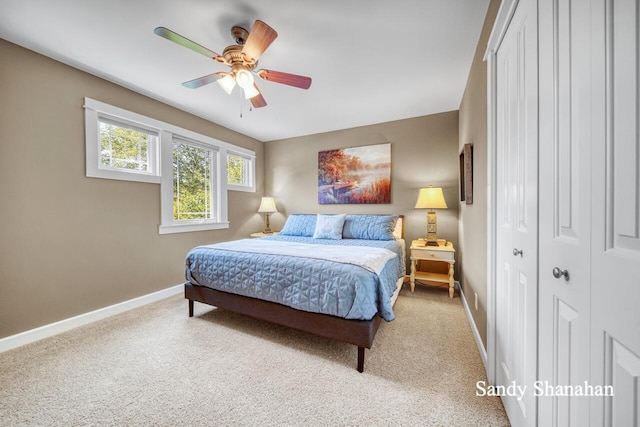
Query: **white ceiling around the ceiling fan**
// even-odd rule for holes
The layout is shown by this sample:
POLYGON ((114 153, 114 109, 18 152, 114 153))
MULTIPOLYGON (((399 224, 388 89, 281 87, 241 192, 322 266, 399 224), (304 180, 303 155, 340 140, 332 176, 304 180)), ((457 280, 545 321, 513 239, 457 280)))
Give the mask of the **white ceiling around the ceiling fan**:
MULTIPOLYGON (((0 37, 260 141, 457 110, 489 0, 0 0, 0 37), (167 27, 217 53, 260 19, 278 38, 259 68, 310 76, 309 90, 256 79, 180 83, 226 71, 156 36, 167 27), (242 111, 242 117, 240 113, 242 111)), ((0 76, 1 77, 1 76, 0 76)))

